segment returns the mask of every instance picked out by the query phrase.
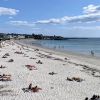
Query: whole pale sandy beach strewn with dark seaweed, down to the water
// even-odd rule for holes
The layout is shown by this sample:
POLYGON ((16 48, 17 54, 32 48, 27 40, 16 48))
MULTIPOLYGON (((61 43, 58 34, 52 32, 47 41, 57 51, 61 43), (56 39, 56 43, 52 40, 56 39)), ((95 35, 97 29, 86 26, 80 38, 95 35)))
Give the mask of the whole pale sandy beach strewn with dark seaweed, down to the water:
POLYGON ((0 100, 85 100, 100 95, 98 58, 22 45, 2 43, 0 100))

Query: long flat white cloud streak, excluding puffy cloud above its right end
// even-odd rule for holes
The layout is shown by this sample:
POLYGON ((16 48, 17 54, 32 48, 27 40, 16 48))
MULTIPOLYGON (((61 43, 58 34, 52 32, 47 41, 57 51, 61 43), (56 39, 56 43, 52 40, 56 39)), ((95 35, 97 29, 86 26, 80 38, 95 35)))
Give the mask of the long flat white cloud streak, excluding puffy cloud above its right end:
POLYGON ((36 24, 66 24, 66 23, 88 23, 88 22, 99 22, 100 13, 72 16, 72 17, 62 17, 59 19, 48 19, 37 21, 36 24))

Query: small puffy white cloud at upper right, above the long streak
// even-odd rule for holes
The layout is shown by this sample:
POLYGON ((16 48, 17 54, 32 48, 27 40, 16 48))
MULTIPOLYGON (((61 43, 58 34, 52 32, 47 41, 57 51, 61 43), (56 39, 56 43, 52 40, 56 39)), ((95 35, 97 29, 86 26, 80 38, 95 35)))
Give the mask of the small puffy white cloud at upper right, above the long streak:
POLYGON ((95 6, 95 5, 88 5, 86 7, 83 7, 83 13, 85 14, 90 14, 90 13, 100 13, 100 5, 95 6))

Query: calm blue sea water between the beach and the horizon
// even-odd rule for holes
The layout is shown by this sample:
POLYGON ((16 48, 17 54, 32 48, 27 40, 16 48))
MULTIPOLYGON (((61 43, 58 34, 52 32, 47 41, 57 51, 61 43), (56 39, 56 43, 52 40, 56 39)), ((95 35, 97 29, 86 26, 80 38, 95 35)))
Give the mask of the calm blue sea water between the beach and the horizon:
POLYGON ((91 55, 92 50, 95 56, 100 56, 100 38, 38 40, 32 42, 32 45, 35 44, 46 48, 57 49, 59 51, 71 51, 86 55, 91 55))

